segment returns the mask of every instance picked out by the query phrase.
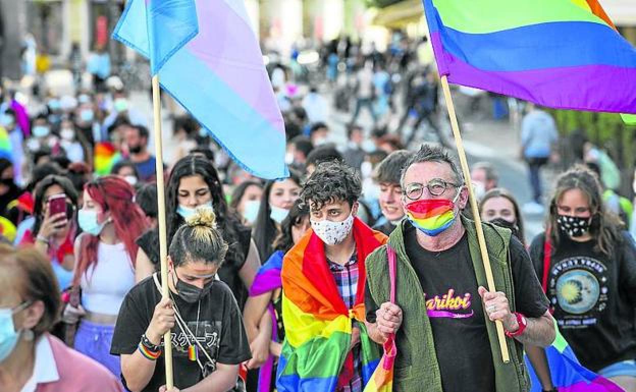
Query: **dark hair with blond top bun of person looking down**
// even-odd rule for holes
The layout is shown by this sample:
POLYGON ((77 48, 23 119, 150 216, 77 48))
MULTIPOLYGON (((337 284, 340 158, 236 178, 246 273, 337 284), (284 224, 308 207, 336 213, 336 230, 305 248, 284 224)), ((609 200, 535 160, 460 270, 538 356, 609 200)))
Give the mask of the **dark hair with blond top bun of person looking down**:
POLYGON ((222 264, 228 244, 216 227, 216 214, 209 206, 198 206, 172 237, 170 259, 175 266, 191 261, 222 264))

